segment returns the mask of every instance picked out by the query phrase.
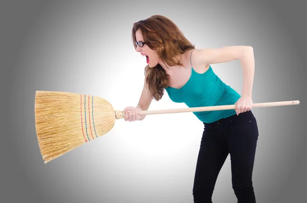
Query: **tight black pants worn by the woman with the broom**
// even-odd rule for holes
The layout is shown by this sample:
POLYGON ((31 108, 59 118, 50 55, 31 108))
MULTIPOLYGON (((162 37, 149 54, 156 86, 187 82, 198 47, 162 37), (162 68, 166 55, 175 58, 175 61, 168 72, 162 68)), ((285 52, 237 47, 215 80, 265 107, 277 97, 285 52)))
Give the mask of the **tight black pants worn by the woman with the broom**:
POLYGON ((252 111, 204 123, 196 164, 193 200, 212 203, 218 173, 230 154, 232 188, 238 203, 255 203, 252 173, 258 140, 257 122, 252 111))

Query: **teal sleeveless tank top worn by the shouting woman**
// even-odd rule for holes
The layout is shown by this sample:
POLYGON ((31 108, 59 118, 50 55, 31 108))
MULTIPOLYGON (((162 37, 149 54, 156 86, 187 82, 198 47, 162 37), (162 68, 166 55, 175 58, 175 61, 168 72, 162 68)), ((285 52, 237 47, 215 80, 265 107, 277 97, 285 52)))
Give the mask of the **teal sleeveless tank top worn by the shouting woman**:
MULTIPOLYGON (((202 107, 232 105, 240 98, 240 95, 233 88, 226 85, 215 75, 211 66, 209 66, 209 69, 203 74, 195 72, 193 66, 191 69, 189 80, 181 88, 165 88, 169 98, 173 102, 185 103, 188 107, 202 107)), ((235 115, 236 112, 234 109, 230 109, 200 111, 193 112, 193 114, 204 123, 212 123, 235 115)))

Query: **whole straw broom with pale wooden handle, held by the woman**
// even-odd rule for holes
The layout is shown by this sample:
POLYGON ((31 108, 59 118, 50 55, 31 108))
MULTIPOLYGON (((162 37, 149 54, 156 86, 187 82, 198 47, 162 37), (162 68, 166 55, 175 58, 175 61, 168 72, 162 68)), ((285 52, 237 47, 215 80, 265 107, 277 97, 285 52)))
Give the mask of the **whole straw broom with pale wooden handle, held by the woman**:
MULTIPOLYGON (((255 103, 254 107, 296 105, 299 101, 255 103)), ((235 105, 181 109, 144 110, 139 115, 170 114, 234 109, 235 105)), ((36 91, 35 127, 42 159, 45 164, 72 149, 94 141, 109 132, 124 112, 114 110, 100 97, 75 93, 36 91)))

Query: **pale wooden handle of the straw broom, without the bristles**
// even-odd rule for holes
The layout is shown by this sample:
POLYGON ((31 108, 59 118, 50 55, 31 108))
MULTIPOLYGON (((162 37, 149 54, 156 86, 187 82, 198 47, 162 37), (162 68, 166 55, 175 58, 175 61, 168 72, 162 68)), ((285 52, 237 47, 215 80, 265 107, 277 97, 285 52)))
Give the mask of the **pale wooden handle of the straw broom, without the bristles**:
MULTIPOLYGON (((281 101, 281 102, 266 102, 266 103, 254 103, 252 108, 255 107, 271 107, 271 106, 288 106, 297 105, 298 100, 295 101, 281 101)), ((138 111, 140 116, 152 115, 152 114, 172 114, 180 112, 197 112, 197 111, 211 111, 211 110, 229 110, 235 109, 235 105, 220 105, 220 106, 204 106, 204 107, 191 107, 191 108, 178 108, 178 109, 164 109, 164 110, 142 110, 138 111)))

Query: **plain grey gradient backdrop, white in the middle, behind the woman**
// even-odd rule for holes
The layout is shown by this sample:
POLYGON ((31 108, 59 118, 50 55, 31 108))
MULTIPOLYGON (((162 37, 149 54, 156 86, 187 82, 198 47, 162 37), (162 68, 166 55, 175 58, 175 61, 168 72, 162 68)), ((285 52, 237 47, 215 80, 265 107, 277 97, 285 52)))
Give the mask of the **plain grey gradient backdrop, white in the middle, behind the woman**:
MULTIPOLYGON (((137 104, 145 60, 134 51, 130 29, 153 14, 171 18, 196 48, 253 46, 255 103, 300 100, 253 109, 260 133, 253 180, 257 202, 305 202, 303 1, 86 2, 6 1, 0 7, 1 202, 192 202, 203 126, 191 114, 118 121, 96 142, 46 165, 37 144, 36 90, 92 94, 117 109, 137 104)), ((237 61, 213 68, 241 93, 237 61)), ((150 108, 177 106, 183 105, 166 95, 150 108)), ((236 202, 229 157, 213 201, 236 202)))

